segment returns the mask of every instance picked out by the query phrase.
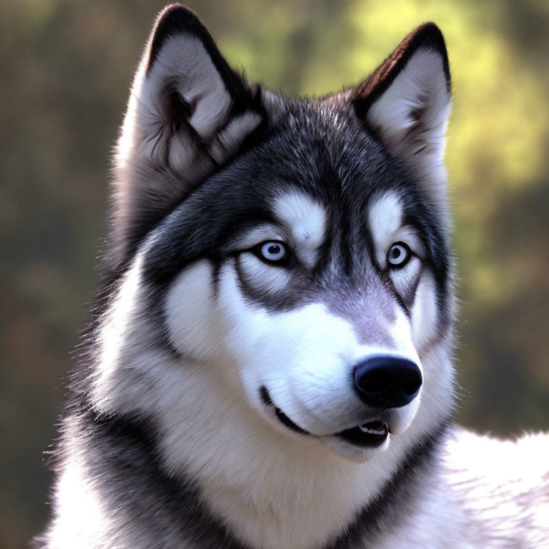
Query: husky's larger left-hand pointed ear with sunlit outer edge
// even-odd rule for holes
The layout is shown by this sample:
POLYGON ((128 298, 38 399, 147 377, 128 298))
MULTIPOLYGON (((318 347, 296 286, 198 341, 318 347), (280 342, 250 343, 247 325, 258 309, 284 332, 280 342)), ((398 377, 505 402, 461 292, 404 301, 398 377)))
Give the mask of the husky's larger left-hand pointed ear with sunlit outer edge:
POLYGON ((169 6, 134 79, 115 157, 111 262, 237 154, 266 118, 258 87, 219 53, 193 11, 169 6))

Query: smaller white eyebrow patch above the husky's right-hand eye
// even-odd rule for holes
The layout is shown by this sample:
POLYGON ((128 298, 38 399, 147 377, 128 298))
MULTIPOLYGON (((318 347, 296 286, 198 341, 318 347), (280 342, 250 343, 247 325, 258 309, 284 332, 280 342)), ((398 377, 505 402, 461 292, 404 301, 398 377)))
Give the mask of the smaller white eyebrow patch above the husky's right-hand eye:
POLYGON ((396 192, 377 197, 368 211, 368 226, 375 244, 376 257, 384 262, 393 237, 402 226, 402 202, 396 192))

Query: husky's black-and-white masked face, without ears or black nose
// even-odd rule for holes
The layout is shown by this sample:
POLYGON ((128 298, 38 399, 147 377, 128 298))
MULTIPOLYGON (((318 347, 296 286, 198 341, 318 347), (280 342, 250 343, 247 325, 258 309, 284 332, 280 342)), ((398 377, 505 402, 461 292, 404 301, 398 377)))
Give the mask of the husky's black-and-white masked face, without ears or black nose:
POLYGON ((367 139, 347 154, 337 145, 281 132, 187 199, 145 262, 165 285, 167 337, 182 357, 215 369, 275 429, 365 460, 410 425, 421 389, 406 405, 372 406, 355 371, 400 358, 421 383, 420 353, 444 322, 435 280, 447 265, 405 173, 367 139), (192 225, 189 209, 199 212, 192 225), (216 229, 204 238, 205 219, 216 229), (197 257, 186 259, 189 240, 197 257))

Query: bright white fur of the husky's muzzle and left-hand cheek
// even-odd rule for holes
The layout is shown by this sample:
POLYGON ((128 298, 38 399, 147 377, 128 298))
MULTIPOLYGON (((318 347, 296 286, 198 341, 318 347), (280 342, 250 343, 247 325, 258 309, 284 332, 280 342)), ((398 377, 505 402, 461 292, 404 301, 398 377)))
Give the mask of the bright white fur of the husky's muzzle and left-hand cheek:
MULTIPOLYGON (((365 344, 350 322, 320 303, 270 312, 251 302, 242 292, 236 266, 234 259, 222 265, 215 293, 212 266, 205 260, 177 277, 166 300, 169 338, 182 357, 217 372, 227 396, 243 387, 256 412, 278 430, 289 434, 273 410, 265 409, 260 387, 268 388, 274 406, 292 421, 317 435, 330 435, 362 418, 351 383, 357 362, 396 353, 420 365, 404 315, 389 327, 392 345, 365 344)), ((399 411, 397 430, 410 425, 418 403, 399 411)))

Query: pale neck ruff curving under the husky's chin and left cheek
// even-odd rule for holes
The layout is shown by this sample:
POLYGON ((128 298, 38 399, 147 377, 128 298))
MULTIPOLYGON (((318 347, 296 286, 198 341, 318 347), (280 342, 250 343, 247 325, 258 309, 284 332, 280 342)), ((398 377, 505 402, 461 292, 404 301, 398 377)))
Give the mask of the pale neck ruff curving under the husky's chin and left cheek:
MULTIPOLYGON (((129 272, 127 287, 139 287, 132 276, 129 272)), ((123 295, 122 290, 120 299, 123 295)), ((134 302, 142 300, 138 296, 134 302)), ((109 317, 114 325, 140 325, 139 311, 122 319, 117 318, 116 301, 113 307, 109 317)), ((127 305, 120 310, 127 315, 127 305)), ((114 325, 106 325, 104 333, 112 333, 114 325)), ((436 442, 430 444, 430 438, 440 435, 446 399, 439 400, 440 410, 420 407, 412 427, 393 437, 384 454, 361 465, 346 463, 313 437, 275 431, 249 409, 242 393, 231 390, 236 372, 229 366, 211 368, 167 355, 155 345, 158 338, 152 327, 142 333, 149 333, 150 341, 125 334, 118 350, 111 348, 103 355, 95 407, 106 415, 133 410, 138 417, 154 410, 151 419, 161 433, 154 444, 162 468, 182 482, 194 479, 207 508, 252 548, 324 546, 348 529, 361 510, 380 505, 382 488, 395 475, 402 478, 392 499, 408 478, 417 483, 421 460, 417 462, 415 455, 425 453, 427 458, 435 451, 436 442), (220 371, 226 372, 223 382, 215 379, 220 371), (403 462, 403 455, 408 460, 403 462), (417 462, 413 468, 410 460, 417 462), (408 470, 402 473, 402 467, 408 470)), ((443 366, 449 360, 446 348, 433 347, 423 358, 425 375, 435 369, 452 372, 443 366)), ((445 385, 452 387, 451 382, 445 385)), ((434 397, 427 392, 425 398, 434 397)), ((364 518, 364 528, 369 525, 364 518)))

